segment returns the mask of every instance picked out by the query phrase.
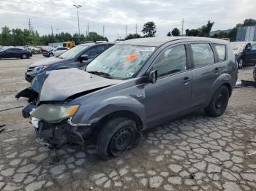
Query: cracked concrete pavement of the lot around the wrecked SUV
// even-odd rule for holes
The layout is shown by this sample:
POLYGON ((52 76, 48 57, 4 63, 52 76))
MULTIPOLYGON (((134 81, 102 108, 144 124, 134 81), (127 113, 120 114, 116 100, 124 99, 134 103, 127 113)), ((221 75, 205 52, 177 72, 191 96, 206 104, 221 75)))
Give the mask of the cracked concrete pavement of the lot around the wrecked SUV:
MULTIPOLYGON (((0 110, 24 106, 13 95, 29 60, 0 61, 0 110)), ((252 66, 239 71, 252 80, 252 66)), ((256 190, 256 90, 236 89, 225 114, 202 111, 143 133, 137 148, 105 161, 86 148, 39 147, 21 108, 0 112, 0 190, 256 190)))

